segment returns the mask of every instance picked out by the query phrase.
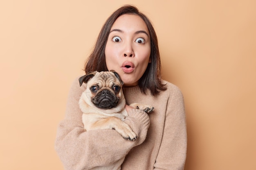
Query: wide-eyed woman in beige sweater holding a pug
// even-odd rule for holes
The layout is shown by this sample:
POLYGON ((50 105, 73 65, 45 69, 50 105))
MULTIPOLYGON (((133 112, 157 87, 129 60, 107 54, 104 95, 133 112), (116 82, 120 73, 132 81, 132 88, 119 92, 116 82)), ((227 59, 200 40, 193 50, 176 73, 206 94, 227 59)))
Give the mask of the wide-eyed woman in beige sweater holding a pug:
POLYGON ((125 122, 137 134, 135 141, 115 130, 85 131, 78 105, 85 87, 76 79, 55 144, 65 169, 110 165, 125 155, 122 170, 184 169, 184 100, 175 85, 160 78, 160 69, 157 37, 148 18, 130 5, 117 9, 103 25, 85 72, 115 70, 124 81, 127 104, 145 103, 155 110, 146 114, 126 105, 125 122))

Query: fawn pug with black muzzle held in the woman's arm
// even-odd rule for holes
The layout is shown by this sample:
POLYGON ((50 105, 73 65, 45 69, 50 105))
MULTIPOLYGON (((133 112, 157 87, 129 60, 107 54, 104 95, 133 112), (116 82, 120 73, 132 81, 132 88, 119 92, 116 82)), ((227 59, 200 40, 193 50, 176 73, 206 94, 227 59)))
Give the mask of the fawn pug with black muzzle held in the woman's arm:
MULTIPOLYGON (((137 135, 124 122, 128 113, 126 100, 122 91, 124 84, 119 74, 113 70, 107 72, 89 72, 79 78, 80 86, 85 83, 85 91, 79 100, 83 112, 82 121, 86 131, 94 129, 115 129, 124 139, 134 141, 137 135)), ((146 113, 153 111, 151 105, 132 103, 131 107, 146 113)), ((93 170, 119 170, 124 158, 114 165, 101 166, 93 170)))

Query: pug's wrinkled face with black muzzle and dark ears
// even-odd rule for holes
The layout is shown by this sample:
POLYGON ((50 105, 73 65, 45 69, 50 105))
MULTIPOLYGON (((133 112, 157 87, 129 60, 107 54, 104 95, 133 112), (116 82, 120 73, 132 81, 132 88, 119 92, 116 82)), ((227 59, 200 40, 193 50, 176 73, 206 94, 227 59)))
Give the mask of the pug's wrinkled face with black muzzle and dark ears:
POLYGON ((114 72, 91 72, 79 78, 80 86, 85 83, 82 97, 85 102, 100 109, 112 109, 125 100, 122 92, 123 82, 114 72))

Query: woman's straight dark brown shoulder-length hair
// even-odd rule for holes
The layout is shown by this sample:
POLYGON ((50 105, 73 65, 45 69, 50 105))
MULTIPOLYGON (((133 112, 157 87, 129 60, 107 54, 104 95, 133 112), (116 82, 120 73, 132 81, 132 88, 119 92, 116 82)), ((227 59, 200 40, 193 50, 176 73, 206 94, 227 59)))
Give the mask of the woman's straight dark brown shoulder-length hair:
POLYGON ((161 62, 160 62, 160 54, 157 42, 157 35, 155 30, 146 15, 139 12, 139 10, 132 5, 124 5, 117 9, 108 19, 105 24, 101 28, 97 41, 94 45, 94 48, 85 63, 85 72, 93 72, 93 71, 108 71, 105 59, 105 48, 107 44, 108 35, 110 33, 110 29, 114 24, 115 20, 121 15, 124 14, 134 14, 141 17, 144 20, 145 24, 148 26, 148 31, 150 34, 150 59, 151 63, 148 63, 148 67, 146 71, 139 79, 139 87, 142 92, 146 94, 147 89, 154 96, 158 94, 161 90, 166 90, 164 84, 161 81, 161 62))

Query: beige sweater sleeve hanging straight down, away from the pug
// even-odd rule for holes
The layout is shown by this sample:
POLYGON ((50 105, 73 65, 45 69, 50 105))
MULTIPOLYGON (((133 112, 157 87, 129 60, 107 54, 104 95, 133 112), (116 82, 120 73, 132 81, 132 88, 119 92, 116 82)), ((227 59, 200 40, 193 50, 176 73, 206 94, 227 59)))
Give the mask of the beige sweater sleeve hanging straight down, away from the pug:
POLYGON ((168 99, 164 133, 154 165, 155 170, 183 170, 186 161, 186 116, 183 95, 173 86, 168 99))

